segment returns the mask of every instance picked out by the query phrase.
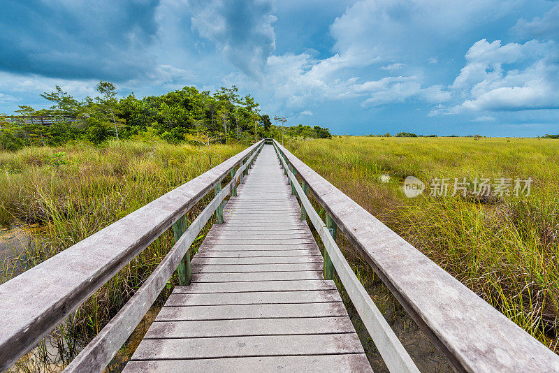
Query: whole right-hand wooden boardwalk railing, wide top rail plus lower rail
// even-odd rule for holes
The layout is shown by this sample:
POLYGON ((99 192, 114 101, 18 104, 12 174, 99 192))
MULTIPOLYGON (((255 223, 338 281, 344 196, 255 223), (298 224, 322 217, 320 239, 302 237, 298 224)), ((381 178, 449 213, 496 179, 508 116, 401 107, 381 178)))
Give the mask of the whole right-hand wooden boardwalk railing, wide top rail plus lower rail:
POLYGON ((351 268, 335 245, 335 239, 326 234, 325 227, 333 233, 337 227, 341 229, 457 372, 559 372, 559 356, 275 140, 274 145, 292 182, 293 193, 298 193, 304 213, 324 242, 329 256, 324 264, 326 275, 331 276, 333 269, 336 270, 391 371, 403 371, 398 364, 405 363, 405 356, 400 354, 391 330, 386 330, 376 317, 375 308, 365 302, 367 294, 355 283, 351 268), (303 187, 295 175, 303 180, 303 187), (326 226, 305 196, 308 189, 326 210, 326 226), (367 309, 371 311, 369 315, 367 309), (365 310, 365 316, 360 310, 365 310))

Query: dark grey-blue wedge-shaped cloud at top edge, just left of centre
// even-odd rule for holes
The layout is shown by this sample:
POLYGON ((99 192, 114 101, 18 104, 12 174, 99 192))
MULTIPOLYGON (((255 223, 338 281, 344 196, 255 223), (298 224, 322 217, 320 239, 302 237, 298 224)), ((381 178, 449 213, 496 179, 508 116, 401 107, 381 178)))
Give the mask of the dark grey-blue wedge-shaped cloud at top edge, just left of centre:
POLYGON ((231 64, 251 78, 261 79, 275 50, 276 18, 270 0, 193 0, 191 24, 215 43, 231 64))

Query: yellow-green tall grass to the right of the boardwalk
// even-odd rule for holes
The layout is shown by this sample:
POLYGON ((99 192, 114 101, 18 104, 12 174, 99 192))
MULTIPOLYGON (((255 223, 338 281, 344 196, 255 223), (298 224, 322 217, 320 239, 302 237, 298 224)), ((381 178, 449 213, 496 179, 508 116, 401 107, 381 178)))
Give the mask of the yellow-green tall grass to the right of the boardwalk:
MULTIPOLYGON (((299 141, 307 165, 558 352, 559 142, 517 138, 299 141), (390 175, 382 182, 381 175, 390 175), (532 177, 530 196, 406 198, 402 182, 532 177)), ((426 274, 427 276, 428 274, 426 274)))

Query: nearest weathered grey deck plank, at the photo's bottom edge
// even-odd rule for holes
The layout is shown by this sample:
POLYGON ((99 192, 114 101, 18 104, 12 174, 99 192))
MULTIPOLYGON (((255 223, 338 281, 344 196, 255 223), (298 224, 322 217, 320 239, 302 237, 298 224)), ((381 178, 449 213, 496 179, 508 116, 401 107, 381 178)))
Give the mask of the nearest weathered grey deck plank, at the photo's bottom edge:
POLYGON ((259 356, 249 358, 219 358, 202 360, 145 360, 131 361, 124 373, 168 373, 168 372, 283 372, 323 373, 370 372, 364 353, 312 356, 259 356))

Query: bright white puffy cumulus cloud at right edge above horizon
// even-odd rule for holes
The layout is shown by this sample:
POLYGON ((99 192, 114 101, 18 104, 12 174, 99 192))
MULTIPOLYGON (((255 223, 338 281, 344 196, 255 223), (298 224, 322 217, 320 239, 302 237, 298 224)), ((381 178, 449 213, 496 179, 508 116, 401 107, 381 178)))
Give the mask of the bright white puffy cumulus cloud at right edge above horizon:
POLYGON ((559 108, 559 66, 552 41, 474 43, 450 86, 463 102, 437 113, 559 108))

